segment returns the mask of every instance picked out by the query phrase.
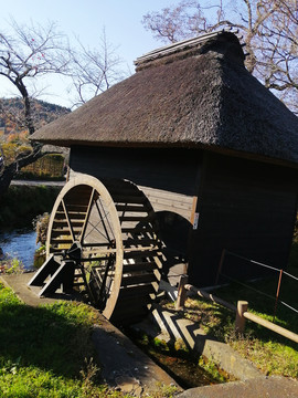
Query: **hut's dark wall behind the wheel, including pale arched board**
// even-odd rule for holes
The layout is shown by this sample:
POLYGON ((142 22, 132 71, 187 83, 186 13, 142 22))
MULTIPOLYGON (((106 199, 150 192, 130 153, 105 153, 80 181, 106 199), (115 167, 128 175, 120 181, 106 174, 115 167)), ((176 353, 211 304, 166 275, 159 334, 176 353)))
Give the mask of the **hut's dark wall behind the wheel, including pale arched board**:
POLYGON ((157 212, 161 239, 173 256, 184 258, 201 163, 200 150, 73 147, 70 166, 73 175, 137 184, 157 212))

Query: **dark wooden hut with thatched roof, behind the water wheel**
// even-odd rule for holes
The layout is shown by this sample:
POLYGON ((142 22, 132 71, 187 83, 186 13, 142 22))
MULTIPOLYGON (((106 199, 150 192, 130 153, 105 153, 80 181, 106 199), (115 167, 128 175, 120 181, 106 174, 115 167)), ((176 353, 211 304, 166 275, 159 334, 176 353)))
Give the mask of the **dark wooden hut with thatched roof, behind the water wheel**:
MULTIPOLYGON (((158 49, 136 61, 136 74, 33 135, 71 147, 76 172, 140 186, 170 265, 185 259, 196 285, 214 283, 223 249, 277 268, 288 261, 298 118, 244 59, 228 32, 158 49)), ((258 274, 232 265, 234 277, 258 274)))

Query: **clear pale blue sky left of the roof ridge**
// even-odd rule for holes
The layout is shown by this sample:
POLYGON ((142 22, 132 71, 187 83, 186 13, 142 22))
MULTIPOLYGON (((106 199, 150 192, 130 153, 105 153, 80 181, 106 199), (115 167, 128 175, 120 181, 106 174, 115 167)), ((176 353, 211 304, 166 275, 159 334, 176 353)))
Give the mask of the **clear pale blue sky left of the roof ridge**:
MULTIPOLYGON (((105 28, 108 42, 117 48, 118 55, 134 72, 134 60, 159 48, 161 42, 141 24, 148 11, 159 11, 178 0, 10 0, 1 1, 0 30, 6 32, 10 18, 18 23, 46 23, 55 21, 61 31, 70 38, 77 35, 82 43, 95 48, 105 28)), ((3 78, 0 81, 0 96, 11 96, 3 78)), ((47 77, 46 92, 42 97, 61 105, 70 105, 63 82, 47 77)))

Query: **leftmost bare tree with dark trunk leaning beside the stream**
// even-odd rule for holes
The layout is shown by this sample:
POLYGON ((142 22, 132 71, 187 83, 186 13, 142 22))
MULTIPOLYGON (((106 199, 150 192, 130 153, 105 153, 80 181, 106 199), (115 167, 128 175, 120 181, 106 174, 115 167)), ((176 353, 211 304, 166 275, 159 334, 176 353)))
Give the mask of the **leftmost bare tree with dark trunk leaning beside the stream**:
MULTIPOLYGON (((11 24, 11 34, 0 31, 0 76, 18 90, 23 101, 23 122, 32 135, 35 130, 31 106, 31 82, 38 76, 66 71, 65 38, 54 23, 46 27, 11 24)), ((33 143, 32 150, 20 154, 14 161, 2 165, 0 170, 0 195, 7 190, 11 179, 22 167, 35 161, 42 154, 42 145, 33 143)))

